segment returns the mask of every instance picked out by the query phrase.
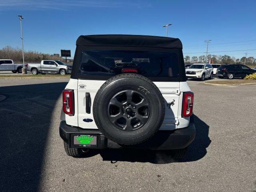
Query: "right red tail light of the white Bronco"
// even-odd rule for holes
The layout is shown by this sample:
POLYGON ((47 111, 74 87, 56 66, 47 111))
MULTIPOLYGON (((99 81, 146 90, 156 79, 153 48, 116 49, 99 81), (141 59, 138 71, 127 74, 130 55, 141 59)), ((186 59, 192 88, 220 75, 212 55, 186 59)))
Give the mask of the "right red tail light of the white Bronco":
POLYGON ((194 93, 192 92, 183 93, 182 117, 188 117, 192 115, 193 101, 194 101, 194 93))

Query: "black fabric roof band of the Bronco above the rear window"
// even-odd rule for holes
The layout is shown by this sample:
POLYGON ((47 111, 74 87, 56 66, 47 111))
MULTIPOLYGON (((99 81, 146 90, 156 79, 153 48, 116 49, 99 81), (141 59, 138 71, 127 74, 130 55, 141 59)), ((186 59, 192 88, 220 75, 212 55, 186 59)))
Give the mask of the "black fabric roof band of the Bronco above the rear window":
POLYGON ((76 45, 84 46, 132 46, 182 49, 180 39, 146 35, 81 35, 76 45))

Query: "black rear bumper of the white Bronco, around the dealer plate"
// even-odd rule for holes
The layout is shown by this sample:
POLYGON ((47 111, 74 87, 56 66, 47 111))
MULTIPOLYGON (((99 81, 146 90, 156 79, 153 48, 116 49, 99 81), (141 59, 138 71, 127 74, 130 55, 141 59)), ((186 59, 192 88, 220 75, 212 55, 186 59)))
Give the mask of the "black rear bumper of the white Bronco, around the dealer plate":
MULTIPOLYGON (((193 118, 190 118, 193 119, 193 118)), ((193 121, 193 120, 192 120, 193 121)), ((149 140, 138 145, 123 146, 116 142, 109 140, 98 129, 82 129, 80 127, 73 127, 67 125, 65 121, 60 122, 60 137, 72 146, 73 140, 71 134, 98 134, 99 149, 105 148, 147 148, 147 149, 181 149, 187 147, 196 136, 196 128, 194 122, 190 122, 188 127, 176 129, 172 131, 158 131, 149 140)))

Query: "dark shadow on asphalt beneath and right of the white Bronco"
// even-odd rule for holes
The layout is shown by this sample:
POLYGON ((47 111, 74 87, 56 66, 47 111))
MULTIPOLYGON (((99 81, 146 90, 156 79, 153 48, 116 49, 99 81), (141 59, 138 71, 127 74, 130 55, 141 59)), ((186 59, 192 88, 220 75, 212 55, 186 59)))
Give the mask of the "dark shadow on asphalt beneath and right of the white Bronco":
MULTIPOLYGON (((191 162, 203 158, 210 145, 211 140, 208 136, 209 126, 194 115, 196 126, 196 138, 188 146, 186 157, 179 162, 191 162)), ((146 149, 109 149, 99 151, 103 161, 116 163, 117 161, 126 162, 149 162, 153 164, 168 164, 177 162, 172 158, 171 150, 146 150, 146 149)))

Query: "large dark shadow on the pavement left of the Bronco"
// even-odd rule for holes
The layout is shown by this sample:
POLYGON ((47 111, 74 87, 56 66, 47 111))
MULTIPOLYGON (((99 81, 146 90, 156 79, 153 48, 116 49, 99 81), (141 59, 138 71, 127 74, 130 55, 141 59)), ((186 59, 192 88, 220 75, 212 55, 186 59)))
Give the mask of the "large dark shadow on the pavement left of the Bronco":
POLYGON ((0 87, 0 191, 37 191, 52 111, 66 84, 0 87))

